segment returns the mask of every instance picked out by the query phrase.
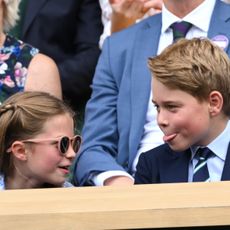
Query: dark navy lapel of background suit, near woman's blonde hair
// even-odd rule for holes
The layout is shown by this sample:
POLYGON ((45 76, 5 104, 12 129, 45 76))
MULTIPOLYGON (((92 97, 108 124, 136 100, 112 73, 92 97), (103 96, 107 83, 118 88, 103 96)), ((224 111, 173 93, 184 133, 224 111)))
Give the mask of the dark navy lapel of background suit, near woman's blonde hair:
MULTIPOLYGON (((40 8, 47 2, 48 0, 29 0, 27 3, 26 11, 28 13, 25 14, 24 24, 22 28, 22 35, 26 34, 26 31, 30 27, 33 22, 35 16, 39 12, 40 8)), ((45 26, 45 25, 44 25, 45 26)))

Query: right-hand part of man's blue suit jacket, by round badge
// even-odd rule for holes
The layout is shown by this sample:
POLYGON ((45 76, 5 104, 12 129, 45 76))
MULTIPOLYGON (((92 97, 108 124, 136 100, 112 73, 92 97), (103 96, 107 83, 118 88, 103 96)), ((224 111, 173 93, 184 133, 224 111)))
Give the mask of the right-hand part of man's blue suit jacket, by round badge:
POLYGON ((216 5, 210 21, 208 38, 213 40, 216 36, 221 35, 228 39, 228 45, 224 49, 230 54, 230 5, 221 1, 216 1, 216 5))

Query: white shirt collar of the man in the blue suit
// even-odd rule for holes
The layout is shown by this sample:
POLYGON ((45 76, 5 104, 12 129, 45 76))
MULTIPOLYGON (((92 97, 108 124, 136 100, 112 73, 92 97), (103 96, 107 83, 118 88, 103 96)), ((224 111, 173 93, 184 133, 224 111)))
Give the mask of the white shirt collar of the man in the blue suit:
POLYGON ((193 26, 207 33, 215 3, 216 0, 205 0, 184 18, 172 14, 163 4, 161 33, 166 32, 172 23, 182 20, 192 23, 193 26))

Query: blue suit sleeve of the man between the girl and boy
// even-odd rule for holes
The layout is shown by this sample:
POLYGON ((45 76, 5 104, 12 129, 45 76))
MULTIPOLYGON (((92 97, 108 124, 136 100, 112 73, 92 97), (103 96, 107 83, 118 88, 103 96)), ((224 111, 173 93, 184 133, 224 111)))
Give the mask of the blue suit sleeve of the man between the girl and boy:
POLYGON ((104 43, 93 79, 93 93, 86 105, 85 125, 82 131, 83 144, 74 169, 77 185, 89 183, 95 173, 121 170, 117 161, 118 83, 111 70, 109 40, 104 43))

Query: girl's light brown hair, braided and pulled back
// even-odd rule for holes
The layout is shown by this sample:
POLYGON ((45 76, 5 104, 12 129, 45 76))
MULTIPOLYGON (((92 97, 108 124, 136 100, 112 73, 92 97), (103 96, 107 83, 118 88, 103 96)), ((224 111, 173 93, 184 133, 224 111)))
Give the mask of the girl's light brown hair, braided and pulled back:
POLYGON ((12 169, 12 154, 7 150, 16 140, 30 139, 43 131, 44 123, 73 110, 60 99, 45 92, 20 92, 0 106, 0 173, 12 169))

